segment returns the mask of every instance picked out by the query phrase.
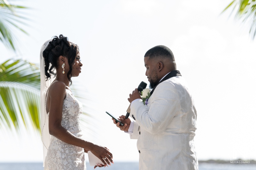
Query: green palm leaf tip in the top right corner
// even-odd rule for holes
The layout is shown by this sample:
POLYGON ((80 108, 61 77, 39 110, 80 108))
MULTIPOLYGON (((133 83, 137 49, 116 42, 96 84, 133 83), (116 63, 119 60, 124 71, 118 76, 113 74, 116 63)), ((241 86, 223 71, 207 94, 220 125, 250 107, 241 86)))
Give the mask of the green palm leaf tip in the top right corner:
POLYGON ((233 0, 223 12, 232 7, 233 11, 236 10, 236 18, 251 24, 249 33, 254 39, 256 35, 256 0, 233 0))

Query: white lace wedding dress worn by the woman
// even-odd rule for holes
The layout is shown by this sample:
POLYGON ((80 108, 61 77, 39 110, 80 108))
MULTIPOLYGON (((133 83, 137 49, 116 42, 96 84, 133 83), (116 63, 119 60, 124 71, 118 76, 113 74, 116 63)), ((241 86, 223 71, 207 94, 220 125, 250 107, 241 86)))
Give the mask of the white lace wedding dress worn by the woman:
MULTIPOLYGON (((73 135, 82 138, 83 135, 80 128, 80 118, 83 105, 74 97, 69 87, 67 88, 66 98, 64 99, 62 109, 61 126, 73 135)), ((60 139, 51 136, 50 146, 45 158, 45 169, 86 170, 86 166, 84 164, 84 149, 67 144, 62 142, 60 139)))

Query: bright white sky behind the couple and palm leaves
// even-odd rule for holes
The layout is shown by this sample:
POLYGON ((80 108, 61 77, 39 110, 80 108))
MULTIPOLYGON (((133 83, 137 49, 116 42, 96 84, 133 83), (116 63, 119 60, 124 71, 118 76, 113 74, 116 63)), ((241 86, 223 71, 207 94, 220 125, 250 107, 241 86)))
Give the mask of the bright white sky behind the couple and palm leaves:
MULTIPOLYGON (((115 127, 108 111, 126 112, 127 98, 145 76, 143 57, 169 47, 196 103, 194 138, 199 160, 256 159, 256 41, 248 23, 234 19, 231 0, 23 0, 26 35, 16 32, 16 52, 0 42, 0 63, 24 58, 39 64, 42 44, 63 34, 80 48, 82 73, 72 78, 86 90, 90 125, 86 140, 106 146, 115 161, 138 161, 137 140, 115 127)), ((20 127, 0 129, 0 162, 43 162, 41 136, 20 127)), ((88 160, 88 159, 87 159, 88 160)))

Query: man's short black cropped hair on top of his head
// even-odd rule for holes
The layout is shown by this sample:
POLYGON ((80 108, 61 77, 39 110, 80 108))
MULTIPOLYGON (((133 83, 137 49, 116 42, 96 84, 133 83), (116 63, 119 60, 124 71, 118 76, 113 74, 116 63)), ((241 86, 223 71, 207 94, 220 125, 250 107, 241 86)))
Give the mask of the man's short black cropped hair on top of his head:
POLYGON ((149 60, 156 59, 156 58, 168 58, 172 62, 175 61, 174 55, 173 55, 172 51, 170 50, 170 48, 163 46, 163 45, 159 45, 159 46, 150 48, 146 52, 144 57, 149 57, 148 58, 149 60))

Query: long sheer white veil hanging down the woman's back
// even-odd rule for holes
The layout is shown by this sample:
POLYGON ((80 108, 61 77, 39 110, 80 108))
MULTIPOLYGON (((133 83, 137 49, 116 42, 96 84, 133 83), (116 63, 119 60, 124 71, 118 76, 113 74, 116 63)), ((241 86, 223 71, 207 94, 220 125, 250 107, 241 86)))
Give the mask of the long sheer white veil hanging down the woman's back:
POLYGON ((43 142, 43 152, 44 152, 44 164, 45 165, 45 157, 47 154, 48 147, 50 145, 50 139, 51 135, 49 134, 49 117, 46 113, 46 92, 49 86, 51 85, 53 78, 51 77, 46 81, 45 79, 45 70, 44 70, 44 57, 43 57, 43 51, 48 46, 49 42, 52 40, 47 40, 43 46, 41 47, 40 52, 40 79, 41 79, 41 129, 42 129, 42 142, 43 142))

